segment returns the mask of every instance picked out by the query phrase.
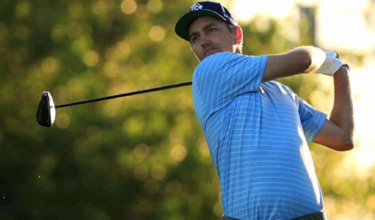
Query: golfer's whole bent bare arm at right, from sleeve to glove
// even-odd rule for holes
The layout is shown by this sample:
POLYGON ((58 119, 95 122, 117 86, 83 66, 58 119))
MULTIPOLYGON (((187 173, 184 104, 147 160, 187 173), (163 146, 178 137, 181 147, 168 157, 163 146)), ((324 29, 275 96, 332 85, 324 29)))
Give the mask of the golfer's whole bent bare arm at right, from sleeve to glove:
POLYGON ((349 150, 353 141, 353 105, 351 101, 348 69, 341 66, 333 75, 334 103, 329 117, 313 142, 334 150, 349 150))

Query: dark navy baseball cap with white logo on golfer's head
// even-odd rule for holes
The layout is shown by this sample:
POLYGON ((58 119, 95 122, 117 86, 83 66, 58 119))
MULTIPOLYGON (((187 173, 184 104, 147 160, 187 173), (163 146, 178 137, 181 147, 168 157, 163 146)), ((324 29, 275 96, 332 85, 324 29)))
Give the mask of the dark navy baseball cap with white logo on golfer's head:
POLYGON ((189 41, 189 26, 192 21, 201 16, 211 16, 234 26, 238 25, 238 21, 234 16, 220 3, 214 1, 198 1, 190 7, 187 13, 179 18, 174 27, 174 31, 182 39, 189 41))

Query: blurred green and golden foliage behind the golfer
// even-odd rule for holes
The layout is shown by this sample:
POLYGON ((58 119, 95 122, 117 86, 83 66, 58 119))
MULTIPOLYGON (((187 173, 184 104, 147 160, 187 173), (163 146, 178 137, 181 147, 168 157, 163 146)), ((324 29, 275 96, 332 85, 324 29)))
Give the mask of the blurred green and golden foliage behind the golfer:
MULTIPOLYGON (((61 104, 191 80, 198 61, 174 24, 192 3, 1 0, 0 219, 220 218, 189 86, 59 108, 51 128, 34 119, 46 90, 61 104)), ((242 26, 244 54, 313 44, 308 20, 298 43, 274 20, 254 22, 242 26)), ((319 76, 281 81, 331 106, 319 76)), ((331 219, 375 216, 375 176, 342 176, 332 167, 346 152, 310 148, 331 219)))

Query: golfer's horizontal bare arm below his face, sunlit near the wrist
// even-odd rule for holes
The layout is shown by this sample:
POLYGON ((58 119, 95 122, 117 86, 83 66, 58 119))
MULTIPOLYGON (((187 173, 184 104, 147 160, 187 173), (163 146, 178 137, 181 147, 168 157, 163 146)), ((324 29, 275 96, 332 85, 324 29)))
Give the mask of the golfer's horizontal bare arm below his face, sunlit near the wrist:
POLYGON ((314 46, 301 46, 286 53, 268 55, 262 82, 314 72, 324 59, 324 51, 314 46))

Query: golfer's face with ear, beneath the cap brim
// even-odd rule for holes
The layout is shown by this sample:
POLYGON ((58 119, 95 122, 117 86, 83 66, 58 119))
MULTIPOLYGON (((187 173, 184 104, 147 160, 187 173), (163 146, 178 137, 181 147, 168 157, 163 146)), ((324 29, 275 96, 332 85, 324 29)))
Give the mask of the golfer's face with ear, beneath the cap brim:
POLYGON ((216 52, 235 52, 235 36, 224 21, 202 16, 190 24, 188 31, 192 51, 199 61, 216 52))

